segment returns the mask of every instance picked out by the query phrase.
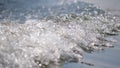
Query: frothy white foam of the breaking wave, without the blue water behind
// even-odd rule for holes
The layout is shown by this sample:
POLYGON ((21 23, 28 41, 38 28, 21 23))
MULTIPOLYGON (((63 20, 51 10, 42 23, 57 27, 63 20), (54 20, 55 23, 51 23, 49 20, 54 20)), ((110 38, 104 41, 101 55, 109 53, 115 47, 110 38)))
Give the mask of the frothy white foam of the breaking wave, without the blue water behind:
MULTIPOLYGON (((71 5, 66 6, 69 9, 71 5)), ((95 7, 89 9, 92 12, 86 9, 80 14, 65 10, 68 14, 58 12, 58 16, 50 19, 25 16, 24 24, 11 20, 12 17, 0 21, 0 67, 43 68, 50 64, 81 62, 83 52, 111 46, 113 40, 108 40, 108 36, 119 32, 119 19, 99 14, 102 10, 95 7)))

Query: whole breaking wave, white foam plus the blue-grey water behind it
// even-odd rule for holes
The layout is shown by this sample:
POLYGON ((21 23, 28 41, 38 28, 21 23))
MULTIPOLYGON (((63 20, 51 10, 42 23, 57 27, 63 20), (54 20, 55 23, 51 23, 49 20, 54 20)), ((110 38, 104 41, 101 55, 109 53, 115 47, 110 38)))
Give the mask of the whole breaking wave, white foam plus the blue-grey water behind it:
POLYGON ((120 30, 119 16, 82 1, 1 0, 0 4, 1 68, 64 68, 71 62, 93 66, 89 55, 98 52, 100 59, 120 30))

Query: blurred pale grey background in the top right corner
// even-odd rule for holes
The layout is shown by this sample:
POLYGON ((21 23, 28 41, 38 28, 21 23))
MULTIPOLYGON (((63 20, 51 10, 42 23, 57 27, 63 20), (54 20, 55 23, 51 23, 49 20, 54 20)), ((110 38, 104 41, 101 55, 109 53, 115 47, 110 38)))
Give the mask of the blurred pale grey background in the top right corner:
POLYGON ((93 3, 96 6, 112 12, 116 15, 120 15, 120 0, 81 0, 89 3, 93 3))

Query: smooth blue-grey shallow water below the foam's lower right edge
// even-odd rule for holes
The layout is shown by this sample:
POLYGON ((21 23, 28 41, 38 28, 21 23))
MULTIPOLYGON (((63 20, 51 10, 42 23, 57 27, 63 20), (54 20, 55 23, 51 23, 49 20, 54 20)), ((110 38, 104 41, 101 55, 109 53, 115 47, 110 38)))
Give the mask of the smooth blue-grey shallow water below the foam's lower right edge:
POLYGON ((114 44, 114 48, 108 48, 101 52, 95 52, 92 54, 84 54, 84 61, 93 64, 93 66, 81 64, 81 63, 68 63, 63 68, 119 68, 120 67, 120 43, 117 37, 118 43, 114 44))

